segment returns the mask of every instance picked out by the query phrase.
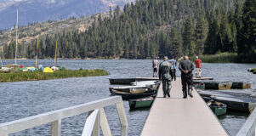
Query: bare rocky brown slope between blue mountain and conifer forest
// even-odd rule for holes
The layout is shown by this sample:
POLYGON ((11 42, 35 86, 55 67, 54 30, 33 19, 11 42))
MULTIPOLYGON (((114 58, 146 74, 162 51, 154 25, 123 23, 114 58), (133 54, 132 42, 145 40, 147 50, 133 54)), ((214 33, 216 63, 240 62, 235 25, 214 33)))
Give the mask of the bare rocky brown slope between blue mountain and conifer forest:
MULTIPOLYGON (((42 23, 30 23, 27 26, 20 26, 18 29, 18 42, 28 44, 34 40, 38 35, 45 37, 46 35, 53 35, 58 31, 85 31, 88 26, 91 26, 94 19, 99 14, 90 15, 82 18, 69 18, 65 20, 48 20, 42 23)), ((108 16, 107 14, 101 14, 102 17, 108 16)), ((0 31, 0 50, 3 45, 8 44, 15 40, 15 30, 0 31)))

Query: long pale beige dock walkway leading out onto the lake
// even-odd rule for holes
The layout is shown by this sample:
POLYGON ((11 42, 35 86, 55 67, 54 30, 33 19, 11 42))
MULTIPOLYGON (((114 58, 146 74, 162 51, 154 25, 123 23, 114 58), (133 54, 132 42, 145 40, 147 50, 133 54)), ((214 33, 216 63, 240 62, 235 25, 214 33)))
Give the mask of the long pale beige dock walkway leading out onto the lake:
POLYGON ((163 98, 162 84, 141 136, 228 136, 218 118, 194 90, 183 99, 180 77, 172 82, 170 98, 163 98))

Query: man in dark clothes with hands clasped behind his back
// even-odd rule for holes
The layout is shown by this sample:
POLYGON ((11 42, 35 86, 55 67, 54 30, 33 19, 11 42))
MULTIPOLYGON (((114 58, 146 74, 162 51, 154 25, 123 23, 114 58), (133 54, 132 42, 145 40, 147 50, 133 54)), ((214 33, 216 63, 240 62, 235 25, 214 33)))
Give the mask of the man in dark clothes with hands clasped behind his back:
POLYGON ((179 71, 181 71, 181 82, 182 82, 182 91, 183 91, 183 98, 187 98, 187 94, 193 97, 192 95, 192 81, 193 81, 193 73, 194 65, 189 60, 188 56, 184 57, 179 63, 179 71))

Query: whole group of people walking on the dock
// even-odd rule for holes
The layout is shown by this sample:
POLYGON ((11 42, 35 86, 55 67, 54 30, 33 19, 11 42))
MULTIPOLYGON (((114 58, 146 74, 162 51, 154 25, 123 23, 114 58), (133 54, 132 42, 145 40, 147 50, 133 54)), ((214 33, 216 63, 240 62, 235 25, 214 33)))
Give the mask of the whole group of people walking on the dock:
MULTIPOLYGON (((164 60, 160 65, 158 65, 158 60, 155 58, 153 60, 153 77, 157 77, 157 68, 159 68, 158 71, 158 77, 159 80, 162 81, 162 91, 163 91, 163 97, 166 98, 167 96, 170 97, 170 91, 172 88, 171 82, 174 80, 176 81, 176 67, 177 67, 177 61, 173 57, 173 59, 168 60, 168 57, 165 56, 164 60)), ((201 70, 201 63, 202 60, 198 59, 196 56, 195 60, 196 65, 196 77, 201 78, 202 70, 201 70)), ((195 67, 191 60, 189 60, 188 56, 184 56, 184 59, 179 63, 179 71, 181 72, 181 83, 182 83, 182 92, 183 92, 183 98, 186 99, 187 95, 189 95, 191 98, 193 98, 192 95, 192 81, 193 81, 193 71, 195 67)))

